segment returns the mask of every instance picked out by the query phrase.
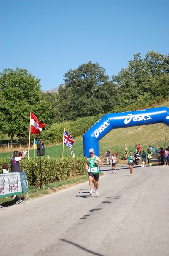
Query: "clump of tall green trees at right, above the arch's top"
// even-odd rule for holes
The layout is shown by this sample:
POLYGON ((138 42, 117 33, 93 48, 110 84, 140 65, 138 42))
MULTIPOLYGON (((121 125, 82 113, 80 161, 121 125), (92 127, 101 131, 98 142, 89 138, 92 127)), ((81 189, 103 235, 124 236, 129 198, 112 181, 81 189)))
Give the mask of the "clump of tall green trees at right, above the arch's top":
POLYGON ((122 69, 113 81, 121 95, 124 110, 144 108, 169 95, 169 56, 148 52, 144 59, 134 54, 127 69, 122 69), (161 82, 163 81, 163 83, 161 82))

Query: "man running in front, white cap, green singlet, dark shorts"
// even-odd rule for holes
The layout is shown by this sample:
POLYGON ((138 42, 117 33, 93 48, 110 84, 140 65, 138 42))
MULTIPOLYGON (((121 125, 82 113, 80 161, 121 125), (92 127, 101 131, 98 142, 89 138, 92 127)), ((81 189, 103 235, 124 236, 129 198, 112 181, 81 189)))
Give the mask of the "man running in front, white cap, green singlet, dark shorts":
POLYGON ((95 179, 95 192, 96 196, 99 196, 98 186, 99 186, 99 168, 102 165, 101 159, 94 154, 94 149, 89 149, 90 157, 87 157, 85 163, 85 169, 89 175, 89 186, 90 186, 90 195, 93 194, 93 184, 92 177, 95 179))

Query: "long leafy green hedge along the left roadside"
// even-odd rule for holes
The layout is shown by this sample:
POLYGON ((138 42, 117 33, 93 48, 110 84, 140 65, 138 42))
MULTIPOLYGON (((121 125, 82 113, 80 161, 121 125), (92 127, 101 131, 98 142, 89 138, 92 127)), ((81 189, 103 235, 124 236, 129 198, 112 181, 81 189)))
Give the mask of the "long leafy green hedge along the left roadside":
MULTIPOLYGON (((65 158, 41 158, 42 179, 44 183, 54 183, 56 181, 68 180, 73 177, 86 175, 85 157, 65 157, 65 158)), ((3 163, 10 166, 10 158, 1 158, 0 166, 3 163)), ((21 171, 26 171, 28 184, 38 186, 41 182, 39 158, 26 159, 20 161, 21 171)), ((11 169, 10 169, 11 172, 11 169)))

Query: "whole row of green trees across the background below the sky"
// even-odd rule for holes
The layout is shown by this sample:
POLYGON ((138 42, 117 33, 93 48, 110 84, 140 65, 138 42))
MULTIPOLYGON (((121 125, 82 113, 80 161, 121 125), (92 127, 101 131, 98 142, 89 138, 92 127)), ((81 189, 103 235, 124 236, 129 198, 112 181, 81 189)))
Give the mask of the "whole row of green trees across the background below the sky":
POLYGON ((0 139, 6 134, 11 141, 14 135, 28 138, 30 111, 46 124, 40 136, 49 130, 56 136, 55 127, 62 122, 149 108, 167 99, 169 55, 151 51, 144 59, 140 53, 133 57, 127 68, 112 77, 99 63, 91 61, 70 69, 57 93, 43 93, 40 79, 28 70, 4 69, 0 73, 0 139))

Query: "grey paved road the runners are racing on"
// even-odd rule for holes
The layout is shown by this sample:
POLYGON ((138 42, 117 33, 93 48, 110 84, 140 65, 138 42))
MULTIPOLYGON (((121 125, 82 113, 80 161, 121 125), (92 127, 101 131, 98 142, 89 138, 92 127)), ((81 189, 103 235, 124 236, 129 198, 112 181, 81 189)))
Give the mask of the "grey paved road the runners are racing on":
POLYGON ((168 256, 169 166, 102 166, 88 182, 0 210, 5 256, 168 256))

